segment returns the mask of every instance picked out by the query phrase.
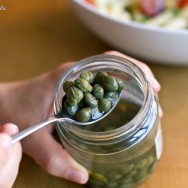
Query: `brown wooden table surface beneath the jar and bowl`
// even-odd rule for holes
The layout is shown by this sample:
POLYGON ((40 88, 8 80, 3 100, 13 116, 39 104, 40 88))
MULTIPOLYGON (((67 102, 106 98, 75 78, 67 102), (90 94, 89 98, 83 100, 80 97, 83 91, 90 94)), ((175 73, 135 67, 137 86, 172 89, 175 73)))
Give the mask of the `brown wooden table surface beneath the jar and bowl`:
MULTIPOLYGON (((65 0, 0 2, 1 81, 31 78, 64 61, 113 49, 94 36, 65 0)), ((157 170, 141 188, 188 187, 188 67, 148 62, 162 85, 159 94, 164 152, 157 170)), ((52 177, 23 156, 14 188, 82 188, 52 177)))

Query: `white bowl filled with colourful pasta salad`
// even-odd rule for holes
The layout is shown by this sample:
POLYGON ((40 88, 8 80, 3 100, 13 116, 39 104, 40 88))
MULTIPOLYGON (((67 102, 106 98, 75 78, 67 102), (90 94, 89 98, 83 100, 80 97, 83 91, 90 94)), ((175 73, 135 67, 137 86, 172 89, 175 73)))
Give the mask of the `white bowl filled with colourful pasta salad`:
POLYGON ((188 64, 188 0, 70 0, 99 38, 149 63, 188 64))

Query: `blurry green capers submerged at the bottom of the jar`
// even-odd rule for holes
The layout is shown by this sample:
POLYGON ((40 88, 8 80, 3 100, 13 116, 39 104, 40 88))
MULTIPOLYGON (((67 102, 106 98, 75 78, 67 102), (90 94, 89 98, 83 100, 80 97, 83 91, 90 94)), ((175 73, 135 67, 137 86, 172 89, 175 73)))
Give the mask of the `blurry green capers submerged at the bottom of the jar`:
MULTIPOLYGON (((142 183, 155 169, 157 159, 155 155, 148 155, 130 163, 116 163, 110 172, 90 171, 89 188, 133 188, 142 183)), ((113 166, 113 164, 111 164, 113 166)))

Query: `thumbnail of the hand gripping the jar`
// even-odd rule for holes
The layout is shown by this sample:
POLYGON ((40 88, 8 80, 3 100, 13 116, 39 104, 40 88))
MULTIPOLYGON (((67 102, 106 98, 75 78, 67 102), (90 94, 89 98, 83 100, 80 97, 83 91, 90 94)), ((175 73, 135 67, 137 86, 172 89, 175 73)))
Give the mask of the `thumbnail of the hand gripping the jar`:
POLYGON ((78 169, 70 169, 67 173, 67 179, 80 184, 84 184, 87 182, 86 175, 78 169))

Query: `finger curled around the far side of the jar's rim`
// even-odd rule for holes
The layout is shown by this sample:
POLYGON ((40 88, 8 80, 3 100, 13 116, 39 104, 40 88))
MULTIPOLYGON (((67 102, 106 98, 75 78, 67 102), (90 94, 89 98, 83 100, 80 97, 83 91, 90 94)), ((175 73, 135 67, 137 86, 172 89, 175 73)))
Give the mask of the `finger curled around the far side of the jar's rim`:
POLYGON ((155 79, 151 69, 144 63, 142 63, 141 61, 138 61, 132 57, 129 57, 125 54, 122 54, 120 52, 117 52, 117 51, 109 51, 109 52, 106 52, 105 54, 109 54, 109 55, 117 55, 117 56, 120 56, 120 57, 124 57, 130 61, 132 61, 133 63, 135 63, 137 66, 139 66, 142 71, 145 73, 148 81, 150 82, 151 86, 153 87, 154 91, 156 93, 158 93, 161 89, 161 86, 159 84, 159 82, 155 79))

